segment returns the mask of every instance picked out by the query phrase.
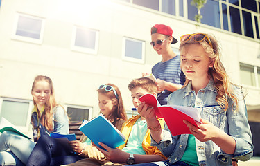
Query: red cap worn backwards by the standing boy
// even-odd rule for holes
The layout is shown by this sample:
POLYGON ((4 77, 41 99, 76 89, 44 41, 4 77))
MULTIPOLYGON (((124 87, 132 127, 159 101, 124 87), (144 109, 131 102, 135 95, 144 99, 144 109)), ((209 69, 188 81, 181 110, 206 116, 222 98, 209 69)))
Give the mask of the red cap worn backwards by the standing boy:
MULTIPOLYGON (((154 34, 154 33, 159 33, 159 34, 162 34, 162 35, 167 35, 167 36, 173 37, 173 30, 171 29, 171 27, 166 26, 164 24, 155 24, 155 26, 153 26, 150 29, 150 33, 151 33, 151 35, 154 34)), ((175 39, 173 37, 173 42, 171 42, 171 44, 175 44, 177 42, 178 42, 177 39, 175 39)))

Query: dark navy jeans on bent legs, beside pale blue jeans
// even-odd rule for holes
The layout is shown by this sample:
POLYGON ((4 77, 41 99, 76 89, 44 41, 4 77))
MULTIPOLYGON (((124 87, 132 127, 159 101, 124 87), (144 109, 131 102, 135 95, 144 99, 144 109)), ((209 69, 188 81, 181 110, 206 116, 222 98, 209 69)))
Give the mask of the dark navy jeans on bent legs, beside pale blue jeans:
POLYGON ((50 136, 41 136, 35 145, 27 166, 56 166, 75 163, 83 159, 78 154, 73 154, 69 149, 50 136))

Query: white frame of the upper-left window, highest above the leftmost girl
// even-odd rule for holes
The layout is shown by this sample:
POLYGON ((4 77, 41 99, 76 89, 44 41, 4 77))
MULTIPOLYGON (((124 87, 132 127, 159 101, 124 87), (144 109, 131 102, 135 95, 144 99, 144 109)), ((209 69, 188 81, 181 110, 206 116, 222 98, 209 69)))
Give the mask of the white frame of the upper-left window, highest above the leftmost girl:
POLYGON ((12 30, 13 31, 12 32, 12 39, 17 39, 17 40, 20 40, 20 41, 30 42, 30 43, 34 43, 34 44, 42 44, 43 37, 44 37, 44 27, 45 27, 45 19, 44 18, 35 17, 35 16, 32 16, 32 15, 26 15, 26 14, 22 14, 22 13, 17 12, 16 17, 15 17, 15 26, 12 30), (16 35, 19 16, 28 17, 28 18, 31 18, 31 19, 38 19, 38 20, 42 21, 39 39, 34 39, 34 38, 31 38, 31 37, 24 37, 24 36, 16 35))

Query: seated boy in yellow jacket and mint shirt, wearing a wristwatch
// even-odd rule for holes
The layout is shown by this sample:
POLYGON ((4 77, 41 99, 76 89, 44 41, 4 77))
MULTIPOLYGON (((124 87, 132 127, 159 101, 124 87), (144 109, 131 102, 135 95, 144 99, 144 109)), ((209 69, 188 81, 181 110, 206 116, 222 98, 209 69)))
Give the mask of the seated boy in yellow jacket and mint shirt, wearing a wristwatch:
MULTIPOLYGON (((141 102, 139 98, 147 93, 157 95, 157 84, 146 77, 132 80, 128 85, 131 91, 132 103, 137 108, 141 102)), ((164 127, 164 120, 159 119, 161 126, 164 127)), ((98 160, 95 158, 85 158, 76 163, 69 165, 130 165, 134 163, 147 163, 153 161, 162 161, 166 157, 157 147, 150 145, 150 127, 147 126, 146 120, 140 115, 134 116, 127 120, 121 129, 126 137, 125 144, 116 149, 107 147, 100 143, 107 151, 98 148, 105 158, 98 160)))

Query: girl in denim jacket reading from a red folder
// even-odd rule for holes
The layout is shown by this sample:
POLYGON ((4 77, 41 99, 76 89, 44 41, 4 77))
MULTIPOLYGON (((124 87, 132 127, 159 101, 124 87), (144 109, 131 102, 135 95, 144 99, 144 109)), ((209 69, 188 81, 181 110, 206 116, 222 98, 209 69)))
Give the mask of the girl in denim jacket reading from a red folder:
POLYGON ((201 124, 195 127, 184 120, 191 134, 171 136, 168 127, 159 126, 153 108, 144 102, 138 107, 152 128, 152 145, 168 157, 163 163, 217 166, 232 165, 232 158, 249 160, 253 145, 244 96, 229 81, 216 39, 203 33, 183 35, 180 53, 187 80, 182 89, 171 93, 168 104, 196 107, 201 124))

